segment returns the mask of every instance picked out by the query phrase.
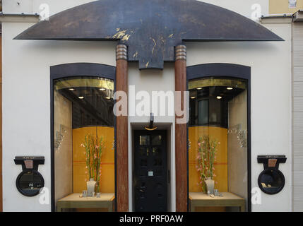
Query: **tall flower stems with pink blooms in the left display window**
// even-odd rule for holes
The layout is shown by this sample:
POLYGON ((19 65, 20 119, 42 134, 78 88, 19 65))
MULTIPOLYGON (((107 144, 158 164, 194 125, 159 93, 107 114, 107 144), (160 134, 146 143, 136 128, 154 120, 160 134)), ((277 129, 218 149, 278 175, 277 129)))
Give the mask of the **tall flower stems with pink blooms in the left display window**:
POLYGON ((101 157, 102 150, 105 148, 103 137, 86 134, 84 143, 81 147, 85 148, 86 169, 88 173, 88 180, 93 178, 96 182, 96 192, 100 192, 100 176, 101 176, 101 157))

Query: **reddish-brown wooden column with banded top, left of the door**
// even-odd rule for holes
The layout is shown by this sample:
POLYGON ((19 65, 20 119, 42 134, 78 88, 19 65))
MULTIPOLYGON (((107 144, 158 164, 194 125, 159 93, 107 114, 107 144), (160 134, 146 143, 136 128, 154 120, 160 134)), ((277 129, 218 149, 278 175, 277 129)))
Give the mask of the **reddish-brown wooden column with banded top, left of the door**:
MULTIPOLYGON (((116 91, 124 91, 128 95, 127 47, 117 45, 116 91)), ((118 100, 117 100, 118 101, 118 100)), ((126 106, 127 107, 127 106, 126 106)), ((117 211, 129 211, 129 136, 128 116, 117 117, 117 211)))

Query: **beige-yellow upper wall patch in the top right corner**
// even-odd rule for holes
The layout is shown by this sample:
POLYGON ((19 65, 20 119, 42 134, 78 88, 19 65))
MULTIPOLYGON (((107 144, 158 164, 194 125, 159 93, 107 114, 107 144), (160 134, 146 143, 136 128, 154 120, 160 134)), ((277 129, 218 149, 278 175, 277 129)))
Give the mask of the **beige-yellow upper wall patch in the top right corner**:
POLYGON ((295 13, 303 9, 303 0, 297 0, 295 8, 290 6, 290 2, 295 0, 269 0, 269 14, 295 13))

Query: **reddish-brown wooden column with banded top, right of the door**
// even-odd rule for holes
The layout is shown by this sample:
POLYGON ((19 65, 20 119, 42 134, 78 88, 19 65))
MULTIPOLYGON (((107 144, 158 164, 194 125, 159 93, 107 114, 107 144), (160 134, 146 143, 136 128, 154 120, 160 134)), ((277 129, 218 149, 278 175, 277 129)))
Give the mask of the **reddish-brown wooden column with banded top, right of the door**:
MULTIPOLYGON (((186 91, 186 46, 176 47, 174 66, 175 90, 182 92, 181 106, 184 106, 184 91, 186 91)), ((176 100, 180 101, 180 100, 176 100)), ((186 117, 186 116, 184 116, 186 117)), ((187 211, 187 128, 186 123, 177 123, 176 115, 176 203, 177 212, 187 211)))

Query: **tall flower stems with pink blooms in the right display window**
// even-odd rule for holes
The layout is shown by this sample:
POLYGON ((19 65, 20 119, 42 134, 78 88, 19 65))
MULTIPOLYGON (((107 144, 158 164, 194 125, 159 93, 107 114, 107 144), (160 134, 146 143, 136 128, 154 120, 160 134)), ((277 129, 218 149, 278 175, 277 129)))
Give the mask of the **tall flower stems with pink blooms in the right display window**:
POLYGON ((202 185, 202 191, 206 193, 205 180, 207 178, 213 179, 215 177, 214 163, 215 153, 217 152, 217 146, 220 144, 215 138, 211 138, 205 135, 198 138, 198 155, 196 169, 200 176, 200 184, 202 185))

